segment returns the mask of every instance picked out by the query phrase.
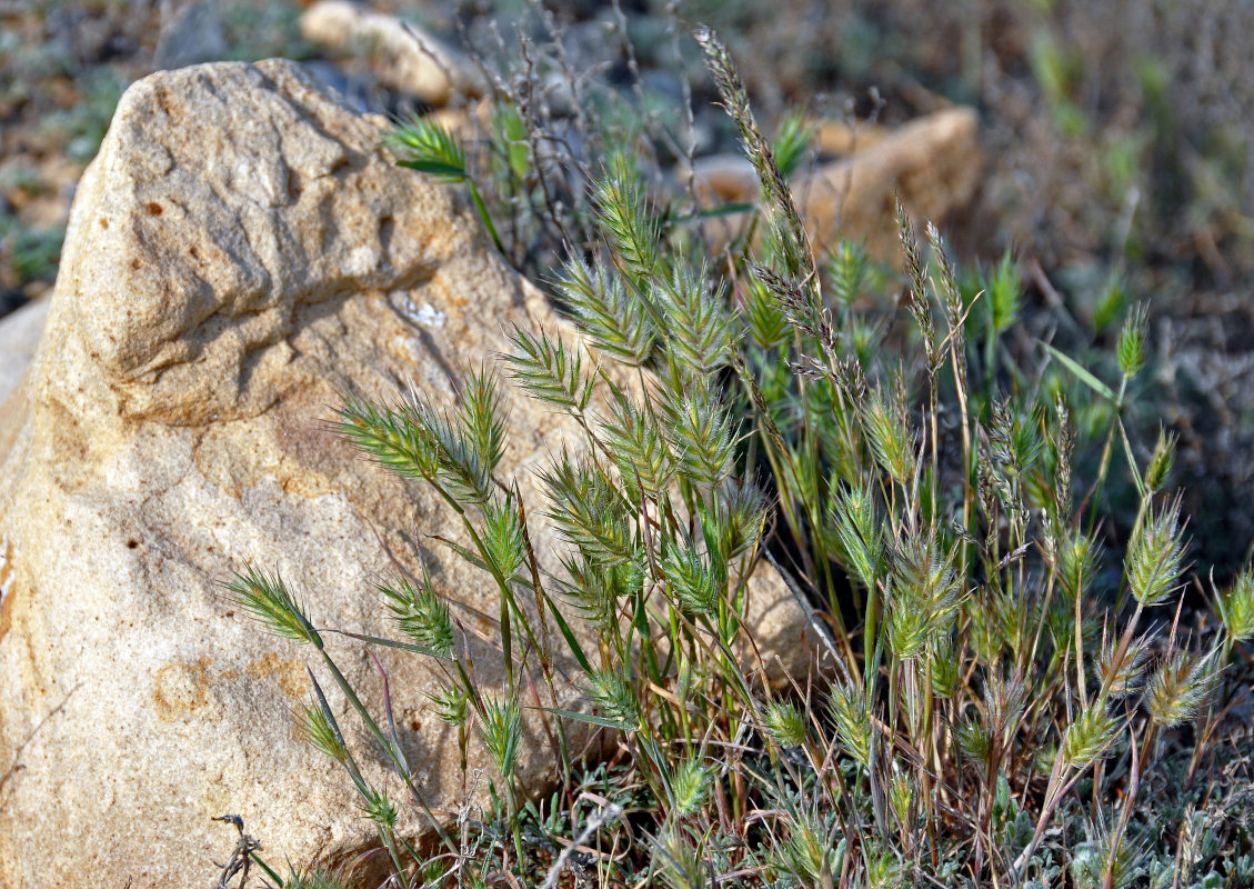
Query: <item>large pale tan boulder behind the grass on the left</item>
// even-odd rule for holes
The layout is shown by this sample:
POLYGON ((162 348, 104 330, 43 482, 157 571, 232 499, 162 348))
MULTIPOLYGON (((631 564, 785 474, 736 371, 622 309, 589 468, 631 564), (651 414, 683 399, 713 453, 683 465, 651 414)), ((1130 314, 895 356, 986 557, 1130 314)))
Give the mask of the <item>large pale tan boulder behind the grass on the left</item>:
MULTIPOLYGON (((223 594, 248 563, 277 568, 317 626, 381 633, 374 583, 421 560, 485 637, 472 634, 479 680, 500 682, 479 617, 498 613, 492 587, 426 543, 458 538, 453 517, 326 420, 340 392, 387 397, 410 379, 453 404, 507 325, 558 320, 460 193, 394 168, 379 139, 290 63, 162 73, 124 95, 39 350, 0 408, 0 885, 208 885, 234 844, 211 821, 226 813, 276 864, 374 845, 344 775, 293 729, 305 652, 223 594)), ((502 474, 534 503, 533 469, 574 436, 512 390, 507 408, 502 474)), ((554 567, 553 532, 532 524, 554 567)), ((800 611, 767 581, 761 634, 795 657, 800 611)), ((381 712, 361 646, 329 646, 381 712)), ((429 662, 379 656, 410 762, 453 810, 429 662)), ((525 737, 523 774, 543 780, 547 735, 529 721, 525 737)), ((379 777, 372 749, 350 744, 379 777)))

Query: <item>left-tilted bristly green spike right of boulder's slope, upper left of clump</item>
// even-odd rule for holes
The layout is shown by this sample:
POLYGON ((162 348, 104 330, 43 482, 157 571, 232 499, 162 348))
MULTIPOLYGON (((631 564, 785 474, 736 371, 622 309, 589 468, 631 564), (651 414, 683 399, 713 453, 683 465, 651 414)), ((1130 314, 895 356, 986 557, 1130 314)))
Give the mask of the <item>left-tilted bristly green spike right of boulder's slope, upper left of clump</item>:
POLYGON ((616 273, 573 257, 554 287, 593 345, 632 366, 648 361, 657 332, 652 315, 645 297, 628 293, 616 273))

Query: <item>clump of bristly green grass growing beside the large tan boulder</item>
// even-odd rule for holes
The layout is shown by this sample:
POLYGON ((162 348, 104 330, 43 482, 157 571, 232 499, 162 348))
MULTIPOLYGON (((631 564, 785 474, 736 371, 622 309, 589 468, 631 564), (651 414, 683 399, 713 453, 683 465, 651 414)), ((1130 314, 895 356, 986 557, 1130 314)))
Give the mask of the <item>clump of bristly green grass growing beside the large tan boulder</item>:
MULTIPOLYGON (((1144 316, 1119 337, 1117 381, 1043 346, 1060 381, 1033 385, 1040 367, 1001 349, 1021 298, 1013 261, 986 273, 981 321, 939 232, 920 243, 903 211, 907 311, 865 313, 861 252, 816 252, 730 55, 709 30, 697 40, 762 179, 765 234, 707 263, 673 248, 680 214, 630 158, 589 183, 589 234, 554 277, 583 340, 518 330, 503 359, 584 436, 544 470, 543 502, 499 475, 495 371, 473 375, 456 410, 416 390, 340 410, 347 440, 441 495, 469 540, 455 553, 499 592, 503 687, 477 682, 425 577, 382 587, 403 641, 369 639, 433 658, 431 706, 458 729, 463 771, 472 742, 493 762, 473 844, 434 818, 390 718, 367 712, 283 582, 250 569, 231 584, 265 627, 315 651, 430 816, 445 849, 423 859, 315 681, 305 731, 360 791, 393 879, 1111 886, 1246 873, 1249 834, 1194 813, 1214 794, 1244 799, 1199 775, 1241 767, 1223 740, 1225 671, 1254 634, 1254 583, 1216 594, 1215 623, 1185 609, 1174 441, 1139 449, 1122 420, 1147 362, 1144 316), (1093 405, 1104 425, 1082 435, 1072 418, 1093 405), (1091 475, 1078 448, 1101 454, 1091 475), (1116 473, 1139 493, 1127 540, 1104 537, 1116 473), (559 577, 535 558, 527 517, 539 514, 566 548, 559 577), (745 622, 767 553, 818 606, 823 637, 813 672, 782 690, 745 622), (557 705, 554 646, 578 665, 582 707, 557 705), (540 806, 517 767, 537 706, 556 717, 563 775, 540 806), (609 764, 574 755, 576 723, 607 732, 609 764), (1144 790, 1167 782, 1184 802, 1144 790)), ((423 139, 453 171, 428 172, 465 181, 448 134, 423 139)))

